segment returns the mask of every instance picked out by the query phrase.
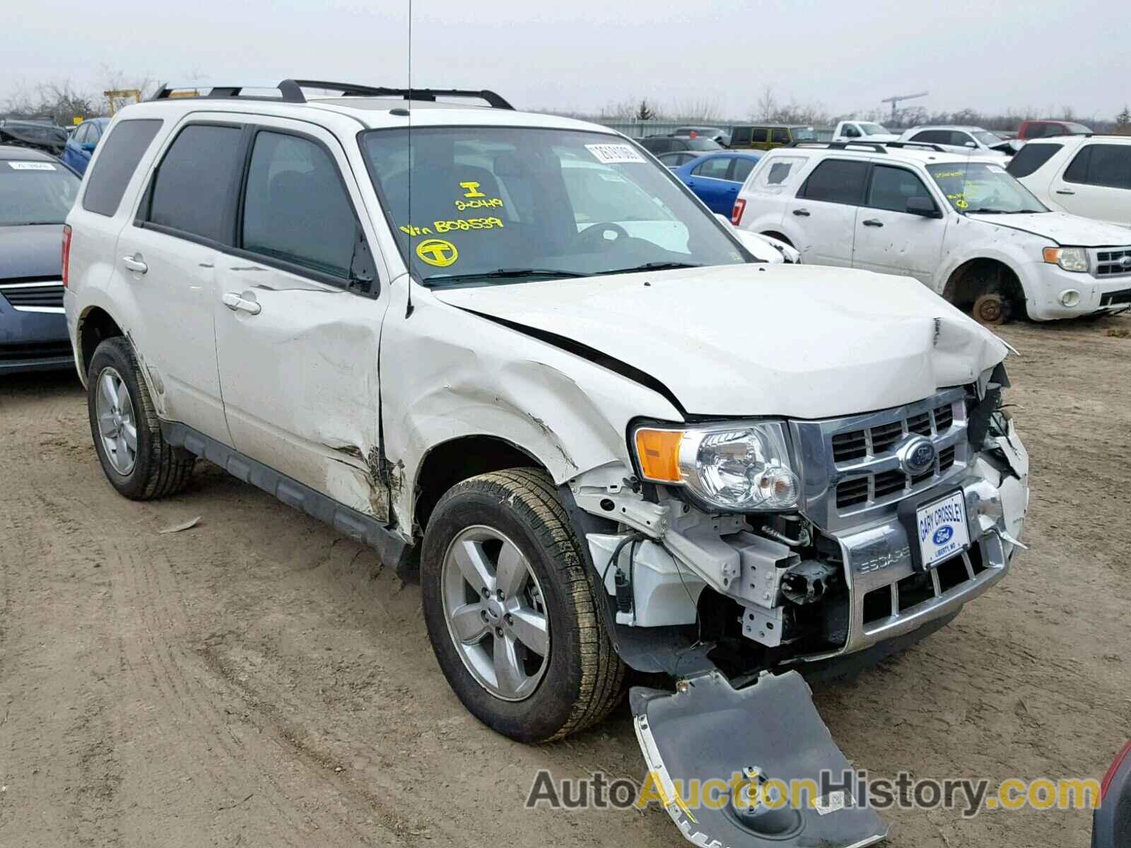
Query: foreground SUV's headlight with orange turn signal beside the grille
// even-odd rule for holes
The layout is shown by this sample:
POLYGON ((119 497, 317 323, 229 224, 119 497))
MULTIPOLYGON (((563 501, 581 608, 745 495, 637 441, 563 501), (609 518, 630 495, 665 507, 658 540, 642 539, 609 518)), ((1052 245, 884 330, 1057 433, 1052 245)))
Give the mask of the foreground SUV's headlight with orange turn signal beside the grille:
POLYGON ((687 486, 701 501, 736 512, 797 507, 801 484, 782 422, 645 426, 632 441, 640 471, 651 483, 687 486))

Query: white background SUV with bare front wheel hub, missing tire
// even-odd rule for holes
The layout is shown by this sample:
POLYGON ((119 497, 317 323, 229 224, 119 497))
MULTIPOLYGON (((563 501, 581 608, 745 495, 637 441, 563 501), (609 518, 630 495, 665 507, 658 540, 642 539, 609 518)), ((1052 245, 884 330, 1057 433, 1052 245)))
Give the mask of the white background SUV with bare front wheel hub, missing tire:
POLYGON ((984 323, 1131 305, 1126 230, 1050 210, 1002 159, 939 145, 771 150, 732 223, 788 242, 806 263, 915 277, 984 323))

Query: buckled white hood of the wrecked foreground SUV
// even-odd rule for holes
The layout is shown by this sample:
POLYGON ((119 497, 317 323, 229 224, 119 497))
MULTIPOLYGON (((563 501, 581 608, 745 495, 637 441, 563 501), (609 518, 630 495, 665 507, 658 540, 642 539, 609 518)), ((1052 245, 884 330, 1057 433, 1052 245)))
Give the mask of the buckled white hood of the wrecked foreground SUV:
POLYGON ((822 418, 973 382, 1005 346, 921 283, 740 265, 439 289, 664 383, 689 414, 822 418))

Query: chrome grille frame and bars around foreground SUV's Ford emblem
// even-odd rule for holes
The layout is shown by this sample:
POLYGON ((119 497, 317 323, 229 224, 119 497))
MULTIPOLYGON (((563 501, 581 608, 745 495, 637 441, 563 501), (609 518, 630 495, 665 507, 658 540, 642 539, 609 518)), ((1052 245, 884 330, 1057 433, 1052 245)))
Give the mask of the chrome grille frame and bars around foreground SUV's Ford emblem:
POLYGON ((949 479, 957 481, 966 471, 970 461, 970 448, 966 435, 966 390, 946 389, 924 400, 891 409, 881 409, 863 415, 828 418, 823 421, 791 421, 789 430, 801 469, 802 497, 805 514, 826 530, 857 527, 878 519, 896 514, 897 504, 916 492, 922 492, 949 479), (932 470, 912 477, 904 471, 897 456, 898 449, 916 431, 923 431, 923 415, 931 422, 930 439, 938 457, 932 470), (949 419, 949 421, 948 421, 949 419), (949 425, 948 425, 949 424, 949 425), (879 442, 872 431, 879 429, 882 435, 899 425, 900 436, 895 441, 879 442), (915 427, 912 430, 910 427, 915 427), (865 452, 840 450, 845 457, 837 461, 834 438, 837 443, 858 444, 857 433, 864 433, 865 452), (847 438, 846 438, 847 436, 847 438), (882 450, 877 450, 877 447, 882 450), (887 476, 883 476, 887 475, 887 476), (903 475, 901 487, 896 486, 903 475), (880 493, 877 494, 877 478, 880 477, 880 493), (861 499, 866 483, 866 496, 861 499), (838 486, 844 483, 845 492, 853 497, 839 497, 838 486))

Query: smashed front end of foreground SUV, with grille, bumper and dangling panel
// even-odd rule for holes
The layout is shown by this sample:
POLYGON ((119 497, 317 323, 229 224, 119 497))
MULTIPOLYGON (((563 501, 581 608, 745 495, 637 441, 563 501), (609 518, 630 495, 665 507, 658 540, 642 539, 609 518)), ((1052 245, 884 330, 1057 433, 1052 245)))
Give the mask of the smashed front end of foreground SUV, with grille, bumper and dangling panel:
MULTIPOLYGON (((1000 408, 1005 386, 999 364, 913 404, 787 421, 793 511, 713 511, 613 469, 571 481, 577 505, 607 518, 608 531, 586 538, 618 648, 633 667, 677 680, 674 694, 633 692, 654 776, 687 786, 748 767, 789 781, 843 769, 796 672, 909 643, 1004 577, 1024 547, 1029 471, 1000 408), (726 739, 717 755, 689 729, 696 718, 726 739)), ((697 812, 674 796, 667 807, 697 845, 882 838, 874 815, 836 797, 789 814, 697 812)))

